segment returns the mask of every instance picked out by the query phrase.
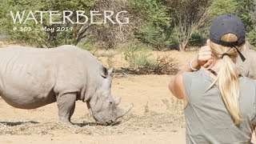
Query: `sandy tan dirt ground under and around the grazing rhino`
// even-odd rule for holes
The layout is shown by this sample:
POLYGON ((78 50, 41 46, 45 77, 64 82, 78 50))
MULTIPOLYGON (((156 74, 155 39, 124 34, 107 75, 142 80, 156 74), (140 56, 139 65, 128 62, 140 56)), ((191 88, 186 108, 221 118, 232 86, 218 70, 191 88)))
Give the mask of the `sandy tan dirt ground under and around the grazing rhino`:
MULTIPOLYGON (((102 51, 102 53, 108 53, 102 51)), ((112 51, 113 53, 113 51, 112 51)), ((182 67, 195 52, 154 52, 177 58, 182 67)), ((99 58, 101 59, 101 58, 99 58)), ((102 62, 107 65, 102 58, 102 62)), ((114 66, 126 65, 114 55, 114 66)), ((114 126, 98 126, 86 103, 77 102, 71 121, 74 129, 58 123, 56 103, 34 110, 20 110, 0 98, 0 143, 186 143, 182 102, 167 86, 172 75, 113 74, 112 94, 121 97, 120 106, 134 103, 134 108, 114 126)))

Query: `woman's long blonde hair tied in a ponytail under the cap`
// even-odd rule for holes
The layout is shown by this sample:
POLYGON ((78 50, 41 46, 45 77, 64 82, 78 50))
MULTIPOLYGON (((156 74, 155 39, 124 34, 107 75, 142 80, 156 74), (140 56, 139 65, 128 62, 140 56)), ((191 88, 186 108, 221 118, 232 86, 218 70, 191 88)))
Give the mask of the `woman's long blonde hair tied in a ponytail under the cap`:
MULTIPOLYGON (((225 34, 222 36, 222 41, 236 42, 237 36, 234 34, 225 34)), ((215 58, 222 58, 222 66, 218 70, 218 76, 211 86, 216 83, 218 90, 222 95, 222 100, 226 106, 226 109, 230 113, 234 125, 238 125, 241 122, 240 110, 239 110, 239 77, 238 71, 234 61, 238 57, 238 52, 234 48, 218 45, 214 42, 210 42, 210 47, 213 50, 215 58), (222 56, 222 54, 228 54, 222 56)), ((239 46, 240 48, 241 46, 239 46)))

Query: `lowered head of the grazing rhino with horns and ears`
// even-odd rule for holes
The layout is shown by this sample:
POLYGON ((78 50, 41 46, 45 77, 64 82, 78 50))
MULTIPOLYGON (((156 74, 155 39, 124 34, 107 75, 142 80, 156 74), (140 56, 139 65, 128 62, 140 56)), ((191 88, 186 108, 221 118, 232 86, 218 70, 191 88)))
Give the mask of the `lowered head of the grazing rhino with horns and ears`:
MULTIPOLYGON (((106 70, 102 66, 100 82, 98 89, 94 96, 90 99, 90 113, 93 115, 95 121, 98 124, 110 125, 117 121, 118 118, 121 118, 123 115, 128 113, 133 104, 126 106, 124 108, 119 108, 118 103, 121 101, 121 98, 114 99, 111 94, 111 73, 113 69, 106 70)), ((88 106, 88 105, 87 105, 88 106)))

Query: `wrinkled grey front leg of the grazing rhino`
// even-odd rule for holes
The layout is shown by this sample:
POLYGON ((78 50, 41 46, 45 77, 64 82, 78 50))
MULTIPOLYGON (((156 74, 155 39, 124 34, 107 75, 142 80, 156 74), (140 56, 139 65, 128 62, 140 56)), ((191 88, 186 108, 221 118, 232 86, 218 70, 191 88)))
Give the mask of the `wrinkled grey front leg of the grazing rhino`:
POLYGON ((75 101, 77 94, 67 93, 59 95, 57 98, 58 118, 61 122, 72 124, 70 118, 74 113, 75 101))

